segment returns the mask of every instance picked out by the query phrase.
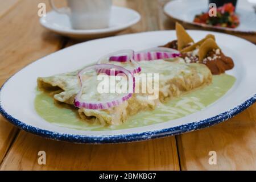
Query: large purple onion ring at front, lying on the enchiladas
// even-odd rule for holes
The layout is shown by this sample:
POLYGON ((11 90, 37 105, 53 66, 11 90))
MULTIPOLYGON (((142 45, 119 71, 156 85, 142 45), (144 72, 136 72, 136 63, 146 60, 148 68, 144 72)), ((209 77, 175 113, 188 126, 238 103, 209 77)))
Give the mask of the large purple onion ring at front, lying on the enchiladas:
MULTIPOLYGON (((113 73, 113 72, 111 72, 113 73)), ((116 74, 113 75, 116 75, 116 74)), ((112 74, 111 74, 112 75, 112 74)), ((128 71, 127 69, 123 68, 123 67, 119 67, 117 65, 113 65, 113 64, 96 64, 96 65, 92 65, 90 67, 86 67, 84 69, 82 69, 82 71, 79 72, 78 74, 79 77, 79 81, 80 81, 80 85, 81 85, 81 89, 79 91, 79 93, 76 95, 75 97, 75 101, 74 101, 74 105, 76 107, 79 108, 85 108, 85 109, 109 109, 110 107, 114 107, 117 106, 119 104, 122 104, 124 101, 129 100, 129 98, 131 96, 133 96, 134 90, 135 90, 135 78, 134 75, 131 74, 130 71, 128 71), (82 81, 82 74, 90 71, 94 69, 94 71, 96 71, 97 73, 105 73, 105 72, 101 72, 104 69, 109 69, 110 71, 112 71, 112 69, 115 69, 115 73, 116 71, 121 72, 122 74, 125 74, 128 78, 129 84, 130 84, 130 77, 132 79, 132 85, 133 88, 131 90, 131 92, 128 92, 127 94, 124 94, 122 96, 119 96, 117 98, 114 98, 113 100, 108 100, 108 101, 84 101, 82 100, 81 96, 82 96, 82 89, 84 88, 84 84, 82 81)), ((130 88, 130 87, 129 87, 130 88)))

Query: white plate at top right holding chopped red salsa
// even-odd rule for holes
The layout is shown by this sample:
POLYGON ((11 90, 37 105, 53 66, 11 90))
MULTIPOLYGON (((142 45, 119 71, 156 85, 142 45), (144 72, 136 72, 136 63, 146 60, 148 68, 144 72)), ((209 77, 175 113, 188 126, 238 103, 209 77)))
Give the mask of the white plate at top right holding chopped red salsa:
POLYGON ((207 24, 194 23, 196 14, 207 12, 209 0, 178 0, 168 2, 164 6, 164 13, 180 22, 192 24, 199 27, 207 27, 212 30, 222 30, 229 33, 242 33, 256 35, 256 14, 253 4, 246 0, 238 1, 236 13, 240 17, 240 26, 237 28, 214 27, 207 24), (182 13, 181 13, 181 10, 182 13))

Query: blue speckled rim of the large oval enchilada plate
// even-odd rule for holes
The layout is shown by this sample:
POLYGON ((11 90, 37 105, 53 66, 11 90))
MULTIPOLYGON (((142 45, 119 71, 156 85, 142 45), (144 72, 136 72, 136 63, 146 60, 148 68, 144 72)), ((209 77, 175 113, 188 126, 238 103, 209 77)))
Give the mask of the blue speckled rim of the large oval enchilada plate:
MULTIPOLYGON (((2 85, 2 87, 0 88, 0 93, 3 87, 5 86, 5 84, 10 80, 10 78, 2 85)), ((224 113, 218 114, 211 118, 207 118, 198 122, 191 122, 185 125, 170 127, 162 130, 146 131, 143 133, 133 133, 133 134, 123 134, 123 135, 98 135, 98 136, 72 135, 72 134, 65 134, 65 133, 57 133, 49 130, 43 130, 38 127, 27 125, 26 123, 19 121, 19 119, 16 119, 10 114, 8 114, 1 105, 1 97, 0 97, 0 113, 10 123, 13 123, 13 125, 17 126, 19 129, 22 129, 24 131, 27 131, 28 133, 36 134, 41 137, 45 137, 49 139, 61 140, 61 141, 73 142, 73 143, 88 143, 88 144, 126 143, 126 142, 137 142, 141 140, 168 137, 172 135, 186 133, 188 131, 204 129, 205 127, 216 125, 217 123, 226 121, 227 119, 234 117, 235 115, 241 113, 243 110, 247 109, 249 106, 253 105, 255 101, 256 101, 256 94, 254 94, 254 96, 250 97, 248 100, 243 102, 241 105, 236 106, 233 109, 225 111, 224 113)))

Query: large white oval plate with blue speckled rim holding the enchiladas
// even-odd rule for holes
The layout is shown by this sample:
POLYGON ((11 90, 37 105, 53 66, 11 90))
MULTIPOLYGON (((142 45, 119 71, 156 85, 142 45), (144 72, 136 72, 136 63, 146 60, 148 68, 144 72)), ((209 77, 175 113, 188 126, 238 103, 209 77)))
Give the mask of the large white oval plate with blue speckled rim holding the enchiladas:
POLYGON ((52 53, 9 78, 0 92, 0 113, 21 129, 43 137, 77 143, 118 143, 165 137, 209 127, 225 121, 255 102, 256 46, 236 36, 208 31, 188 31, 195 40, 216 36, 235 67, 228 74, 237 78, 232 89, 204 110, 187 117, 150 126, 113 131, 82 131, 53 125, 34 109, 36 78, 69 72, 94 63, 102 55, 120 49, 139 51, 176 39, 175 31, 155 31, 115 36, 76 44, 52 53), (153 38, 153 39, 148 39, 153 38))

